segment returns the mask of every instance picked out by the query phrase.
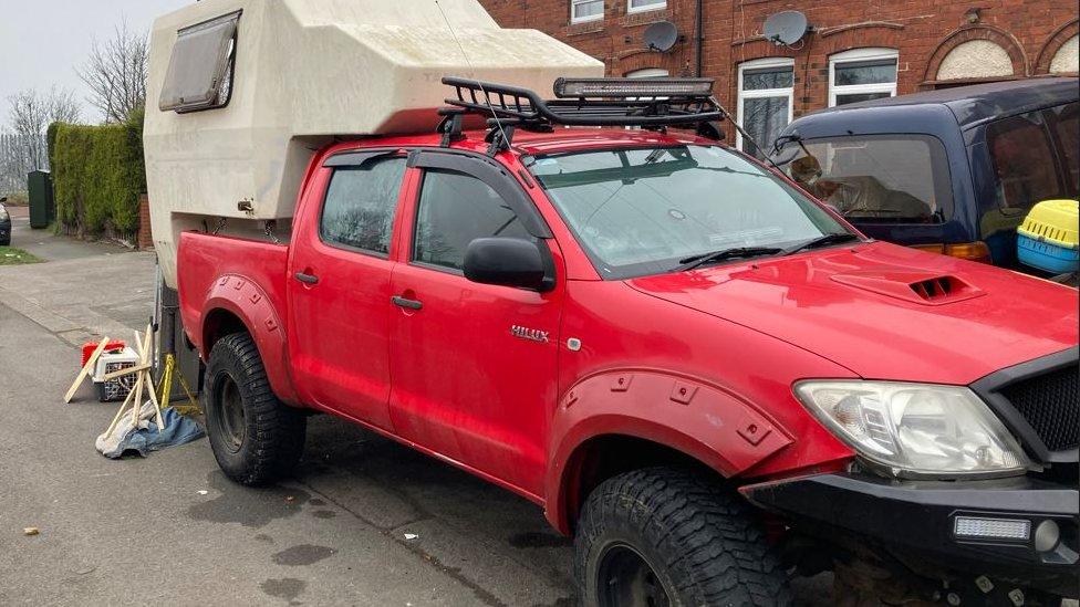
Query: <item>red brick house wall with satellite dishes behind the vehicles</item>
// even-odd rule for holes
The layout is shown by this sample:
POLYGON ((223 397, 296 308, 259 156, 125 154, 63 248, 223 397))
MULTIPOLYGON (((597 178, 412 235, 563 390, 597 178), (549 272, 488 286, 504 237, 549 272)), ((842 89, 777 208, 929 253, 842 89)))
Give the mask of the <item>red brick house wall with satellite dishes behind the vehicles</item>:
MULTIPOLYGON (((570 24, 570 0, 480 0, 508 28, 542 30, 603 61, 609 75, 660 67, 694 75, 694 0, 667 0, 651 12, 626 13, 627 0, 608 0, 604 19, 570 24), (673 21, 683 40, 667 53, 644 49, 648 23, 673 21)), ((738 64, 768 56, 795 63, 793 114, 825 107, 829 55, 885 46, 899 51, 899 94, 932 88, 942 59, 973 39, 1005 49, 1017 77, 1046 74, 1050 59, 1077 34, 1077 7, 1061 0, 704 0, 704 75, 717 79, 720 102, 736 111, 738 64), (970 23, 969 9, 979 9, 970 23), (765 19, 781 10, 807 14, 814 32, 795 49, 775 46, 760 32, 765 19)), ((730 135, 730 133, 729 133, 730 135)))

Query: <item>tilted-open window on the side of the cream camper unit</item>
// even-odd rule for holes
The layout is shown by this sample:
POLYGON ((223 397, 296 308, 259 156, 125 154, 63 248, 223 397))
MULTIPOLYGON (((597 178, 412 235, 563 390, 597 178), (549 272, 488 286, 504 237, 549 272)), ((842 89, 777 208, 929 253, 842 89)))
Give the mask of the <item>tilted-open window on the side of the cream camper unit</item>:
POLYGON ((238 11, 176 32, 158 103, 163 112, 195 112, 229 104, 239 20, 238 11))

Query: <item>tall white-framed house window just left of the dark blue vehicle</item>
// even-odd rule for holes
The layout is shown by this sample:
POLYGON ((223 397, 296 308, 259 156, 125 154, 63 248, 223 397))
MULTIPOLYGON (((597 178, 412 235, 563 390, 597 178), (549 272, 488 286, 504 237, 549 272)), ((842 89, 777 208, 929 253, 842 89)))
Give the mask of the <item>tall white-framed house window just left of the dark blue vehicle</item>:
POLYGON ((739 124, 754 138, 736 146, 764 159, 780 130, 791 122, 793 62, 790 59, 759 59, 739 65, 739 124))

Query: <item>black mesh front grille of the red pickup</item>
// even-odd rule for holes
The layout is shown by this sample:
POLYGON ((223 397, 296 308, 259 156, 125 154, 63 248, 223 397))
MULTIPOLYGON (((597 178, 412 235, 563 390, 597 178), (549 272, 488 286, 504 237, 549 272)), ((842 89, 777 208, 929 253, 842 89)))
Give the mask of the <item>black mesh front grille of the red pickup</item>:
POLYGON ((1001 388, 1051 451, 1080 444, 1080 375, 1069 366, 1001 388))

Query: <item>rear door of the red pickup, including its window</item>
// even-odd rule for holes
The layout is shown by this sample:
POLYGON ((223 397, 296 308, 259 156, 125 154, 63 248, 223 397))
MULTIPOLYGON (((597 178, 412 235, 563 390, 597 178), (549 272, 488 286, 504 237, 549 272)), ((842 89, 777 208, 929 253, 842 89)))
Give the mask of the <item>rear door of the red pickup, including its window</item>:
POLYGON ((288 279, 301 394, 387 430, 390 253, 405 163, 394 150, 331 156, 304 201, 288 279))

